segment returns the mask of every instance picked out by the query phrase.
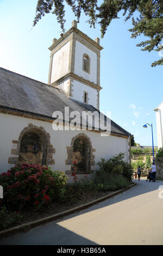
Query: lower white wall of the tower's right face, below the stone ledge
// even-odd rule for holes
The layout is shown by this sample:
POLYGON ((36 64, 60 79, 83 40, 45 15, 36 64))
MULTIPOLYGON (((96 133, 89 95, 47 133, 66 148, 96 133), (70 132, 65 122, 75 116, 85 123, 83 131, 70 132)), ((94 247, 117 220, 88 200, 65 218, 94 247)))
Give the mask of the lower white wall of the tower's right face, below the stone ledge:
POLYGON ((72 98, 74 100, 84 102, 83 95, 85 91, 88 93, 88 98, 89 98, 88 104, 97 108, 97 90, 96 89, 90 86, 86 86, 86 84, 80 83, 76 80, 73 80, 72 84, 73 84, 72 98))

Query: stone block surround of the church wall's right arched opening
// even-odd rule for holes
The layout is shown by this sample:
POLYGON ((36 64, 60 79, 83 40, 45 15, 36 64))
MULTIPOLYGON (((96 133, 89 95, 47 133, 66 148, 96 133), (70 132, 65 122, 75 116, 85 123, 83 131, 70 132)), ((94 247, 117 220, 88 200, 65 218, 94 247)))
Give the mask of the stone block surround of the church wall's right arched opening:
MULTIPOLYGON (((89 151, 90 151, 90 168, 91 168, 92 166, 95 166, 95 155, 93 155, 93 152, 95 152, 96 149, 93 149, 93 148, 92 148, 91 140, 90 140, 90 138, 89 138, 87 135, 85 135, 85 133, 78 133, 77 136, 75 136, 75 137, 72 138, 72 140, 71 140, 71 146, 66 147, 66 149, 67 149, 67 159, 65 160, 65 164, 66 164, 66 165, 70 165, 70 166, 72 167, 72 162, 73 162, 73 159, 72 159, 73 143, 74 143, 74 141, 75 141, 77 138, 79 138, 79 137, 84 137, 84 138, 87 140, 87 143, 89 144, 89 148, 88 148, 88 149, 89 149, 89 151)), ((71 171, 71 170, 66 170, 65 173, 66 173, 66 174, 71 174, 72 171, 71 171)), ((88 173, 89 173, 89 174, 93 173, 93 170, 90 169, 90 171, 89 171, 88 173)), ((88 174, 88 173, 87 173, 87 174, 88 174)), ((82 173, 80 173, 80 174, 82 174, 82 173)), ((85 174, 85 172, 84 172, 84 174, 85 174)))

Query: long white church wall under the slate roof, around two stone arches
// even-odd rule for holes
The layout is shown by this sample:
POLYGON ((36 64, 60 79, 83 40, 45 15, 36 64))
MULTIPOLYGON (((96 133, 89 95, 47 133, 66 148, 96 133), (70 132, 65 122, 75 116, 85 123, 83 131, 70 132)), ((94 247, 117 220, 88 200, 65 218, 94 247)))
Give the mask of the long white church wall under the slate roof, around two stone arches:
MULTIPOLYGON (((30 118, 17 117, 9 114, 0 114, 0 173, 7 171, 13 164, 8 163, 9 157, 16 157, 17 155, 11 155, 11 149, 16 149, 17 144, 13 144, 12 140, 18 140, 21 131, 24 127, 27 127, 29 123, 36 126, 42 126, 51 136, 51 144, 55 148, 55 154, 53 159, 55 164, 50 166, 53 170, 70 170, 70 165, 65 164, 67 159, 66 147, 71 146, 71 140, 78 133, 84 132, 91 140, 92 148, 96 149, 93 152, 95 155, 95 162, 98 162, 101 157, 109 159, 112 155, 118 153, 127 153, 127 139, 108 136, 102 137, 100 133, 92 131, 54 131, 52 124, 44 121, 34 120, 30 118)), ((127 155, 126 155, 127 160, 127 155)), ((93 170, 98 169, 98 166, 92 167, 93 170)))

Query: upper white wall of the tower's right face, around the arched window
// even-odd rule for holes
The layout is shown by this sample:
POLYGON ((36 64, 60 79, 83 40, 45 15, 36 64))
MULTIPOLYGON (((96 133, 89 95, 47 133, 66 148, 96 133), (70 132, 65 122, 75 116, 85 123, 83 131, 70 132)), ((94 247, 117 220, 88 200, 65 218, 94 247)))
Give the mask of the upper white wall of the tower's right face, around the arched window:
POLYGON ((79 41, 76 41, 74 74, 97 84, 97 54, 91 51, 85 45, 81 44, 79 41), (83 71, 84 53, 90 57, 90 74, 83 71))

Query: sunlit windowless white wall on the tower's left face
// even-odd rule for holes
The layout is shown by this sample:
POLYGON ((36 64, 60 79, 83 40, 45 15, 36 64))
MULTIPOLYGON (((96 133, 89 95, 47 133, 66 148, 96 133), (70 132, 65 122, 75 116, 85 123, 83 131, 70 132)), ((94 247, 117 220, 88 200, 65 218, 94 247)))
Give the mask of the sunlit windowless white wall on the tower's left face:
POLYGON ((53 54, 51 83, 57 81, 62 76, 68 73, 68 63, 70 54, 70 41, 62 46, 57 52, 53 54))

